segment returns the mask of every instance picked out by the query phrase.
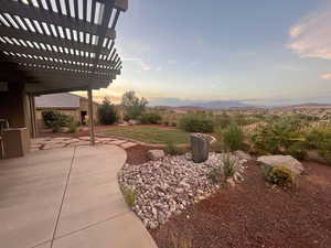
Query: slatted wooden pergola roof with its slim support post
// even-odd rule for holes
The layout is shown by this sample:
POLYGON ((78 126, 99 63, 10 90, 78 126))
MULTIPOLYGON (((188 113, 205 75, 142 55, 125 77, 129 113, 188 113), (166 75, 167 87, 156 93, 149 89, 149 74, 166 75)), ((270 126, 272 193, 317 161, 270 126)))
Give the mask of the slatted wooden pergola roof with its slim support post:
MULTIPOLYGON (((31 97, 107 87, 121 71, 116 24, 128 0, 0 0, 0 82, 31 97)), ((94 123, 90 118, 92 143, 94 123)))

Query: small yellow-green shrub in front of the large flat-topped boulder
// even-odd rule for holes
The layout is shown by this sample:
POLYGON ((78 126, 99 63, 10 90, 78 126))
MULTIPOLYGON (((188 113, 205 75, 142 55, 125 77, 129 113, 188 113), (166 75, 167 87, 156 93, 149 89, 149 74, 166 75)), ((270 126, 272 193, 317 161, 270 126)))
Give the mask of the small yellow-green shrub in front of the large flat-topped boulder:
POLYGON ((278 186, 292 186, 296 183, 295 174, 285 166, 273 166, 267 180, 278 186))

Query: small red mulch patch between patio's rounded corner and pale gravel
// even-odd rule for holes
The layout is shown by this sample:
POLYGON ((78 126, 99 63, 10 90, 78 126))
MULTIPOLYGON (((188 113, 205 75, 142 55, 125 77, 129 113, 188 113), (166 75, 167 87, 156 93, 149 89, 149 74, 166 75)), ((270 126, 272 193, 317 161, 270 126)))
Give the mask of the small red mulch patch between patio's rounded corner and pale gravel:
POLYGON ((138 144, 136 147, 126 149, 127 163, 131 165, 138 165, 150 161, 150 159, 147 157, 147 151, 154 150, 154 149, 162 150, 164 148, 147 147, 147 145, 138 144))

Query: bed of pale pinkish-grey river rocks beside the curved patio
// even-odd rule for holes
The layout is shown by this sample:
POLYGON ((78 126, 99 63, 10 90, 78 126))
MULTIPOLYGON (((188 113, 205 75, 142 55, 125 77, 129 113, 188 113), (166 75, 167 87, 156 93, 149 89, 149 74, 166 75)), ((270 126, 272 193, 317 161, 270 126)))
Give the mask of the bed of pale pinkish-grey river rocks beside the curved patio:
MULTIPOLYGON (((215 183, 209 174, 223 166, 223 157, 212 152, 204 163, 194 163, 186 153, 135 166, 125 164, 119 173, 119 184, 137 192, 132 209, 147 227, 154 229, 220 188, 225 180, 215 183)), ((234 181, 243 181, 246 160, 234 155, 231 159, 237 169, 234 181)))

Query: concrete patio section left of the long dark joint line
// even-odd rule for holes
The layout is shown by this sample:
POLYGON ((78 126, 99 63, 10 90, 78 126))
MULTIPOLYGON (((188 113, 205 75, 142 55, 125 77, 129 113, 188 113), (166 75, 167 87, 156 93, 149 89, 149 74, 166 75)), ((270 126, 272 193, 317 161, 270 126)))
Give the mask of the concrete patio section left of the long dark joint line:
POLYGON ((1 248, 52 239, 73 151, 36 151, 0 162, 1 248))

